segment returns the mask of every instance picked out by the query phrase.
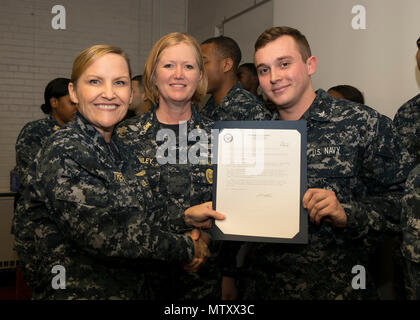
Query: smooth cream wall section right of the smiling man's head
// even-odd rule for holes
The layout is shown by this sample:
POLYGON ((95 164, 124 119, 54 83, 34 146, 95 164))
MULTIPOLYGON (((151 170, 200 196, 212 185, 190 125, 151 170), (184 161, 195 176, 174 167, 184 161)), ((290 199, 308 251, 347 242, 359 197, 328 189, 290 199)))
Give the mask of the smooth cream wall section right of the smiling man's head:
POLYGON ((275 26, 302 31, 318 58, 314 89, 350 84, 366 104, 393 118, 420 91, 418 0, 274 0, 275 26), (352 8, 366 8, 366 29, 353 30, 352 8))

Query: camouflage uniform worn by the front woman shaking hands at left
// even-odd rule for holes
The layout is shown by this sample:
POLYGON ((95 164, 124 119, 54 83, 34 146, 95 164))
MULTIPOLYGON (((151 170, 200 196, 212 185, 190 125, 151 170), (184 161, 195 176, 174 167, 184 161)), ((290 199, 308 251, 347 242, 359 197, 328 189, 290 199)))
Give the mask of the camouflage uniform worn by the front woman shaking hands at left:
POLYGON ((193 258, 191 238, 164 228, 147 177, 121 158, 130 150, 114 138, 106 143, 76 114, 30 170, 13 223, 18 255, 35 266, 35 299, 149 299, 145 273, 152 262, 193 258), (35 230, 35 260, 25 251, 31 239, 20 232, 28 227, 35 230), (65 268, 65 290, 51 285, 54 266, 65 268))

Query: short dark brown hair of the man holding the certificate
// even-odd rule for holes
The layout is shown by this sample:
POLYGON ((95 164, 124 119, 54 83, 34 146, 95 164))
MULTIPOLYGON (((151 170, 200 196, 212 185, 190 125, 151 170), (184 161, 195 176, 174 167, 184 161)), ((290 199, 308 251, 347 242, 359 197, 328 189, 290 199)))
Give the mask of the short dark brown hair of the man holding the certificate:
POLYGON ((282 36, 290 36, 295 39, 303 62, 306 62, 306 60, 312 56, 311 47, 309 46, 306 37, 299 30, 286 26, 272 27, 265 30, 255 42, 255 51, 265 47, 268 43, 282 36))

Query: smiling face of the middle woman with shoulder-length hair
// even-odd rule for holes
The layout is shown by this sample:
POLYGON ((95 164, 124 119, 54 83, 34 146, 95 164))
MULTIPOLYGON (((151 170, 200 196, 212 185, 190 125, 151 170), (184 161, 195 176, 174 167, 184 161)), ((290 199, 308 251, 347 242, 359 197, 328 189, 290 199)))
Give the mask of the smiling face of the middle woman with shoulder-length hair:
POLYGON ((185 105, 191 102, 202 78, 193 48, 186 43, 162 51, 154 75, 159 105, 185 105))

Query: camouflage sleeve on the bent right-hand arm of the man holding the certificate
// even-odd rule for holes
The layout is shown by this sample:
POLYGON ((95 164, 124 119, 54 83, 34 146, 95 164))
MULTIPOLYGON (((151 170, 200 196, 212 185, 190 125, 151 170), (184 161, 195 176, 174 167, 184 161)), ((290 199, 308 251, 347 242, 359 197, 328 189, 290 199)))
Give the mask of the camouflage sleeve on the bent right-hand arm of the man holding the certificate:
POLYGON ((401 231, 401 198, 404 182, 413 166, 413 159, 389 118, 379 116, 373 126, 371 141, 362 157, 360 175, 367 186, 366 195, 342 203, 347 215, 344 233, 351 238, 370 235, 380 240, 401 231))

